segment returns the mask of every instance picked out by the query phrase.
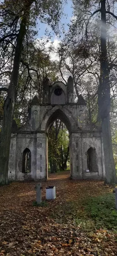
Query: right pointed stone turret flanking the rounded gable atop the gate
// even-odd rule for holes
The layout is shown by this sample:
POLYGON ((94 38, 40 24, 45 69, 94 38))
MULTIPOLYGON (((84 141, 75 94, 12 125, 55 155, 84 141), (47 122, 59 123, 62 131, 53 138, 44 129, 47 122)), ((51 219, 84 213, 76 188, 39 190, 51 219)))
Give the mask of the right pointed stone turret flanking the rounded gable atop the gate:
POLYGON ((68 87, 68 103, 74 103, 74 81, 70 75, 67 81, 68 87))

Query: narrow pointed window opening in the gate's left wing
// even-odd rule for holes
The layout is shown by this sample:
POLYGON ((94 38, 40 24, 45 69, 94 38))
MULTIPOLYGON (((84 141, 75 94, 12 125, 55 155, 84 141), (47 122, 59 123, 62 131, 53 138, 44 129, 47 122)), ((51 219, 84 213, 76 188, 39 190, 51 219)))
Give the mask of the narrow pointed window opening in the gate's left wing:
POLYGON ((28 148, 26 148, 23 152, 22 173, 30 173, 30 172, 31 172, 31 152, 28 148))

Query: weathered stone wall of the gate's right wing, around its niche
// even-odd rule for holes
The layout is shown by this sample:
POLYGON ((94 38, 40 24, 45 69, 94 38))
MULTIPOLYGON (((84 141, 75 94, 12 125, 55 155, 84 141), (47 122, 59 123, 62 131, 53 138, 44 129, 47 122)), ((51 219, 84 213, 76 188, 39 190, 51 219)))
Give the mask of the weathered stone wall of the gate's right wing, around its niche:
POLYGON ((72 133, 70 136, 73 179, 103 179, 105 177, 105 168, 103 163, 101 133, 72 133), (92 147, 96 151, 96 158, 93 155, 92 172, 87 173, 87 151, 92 147))

